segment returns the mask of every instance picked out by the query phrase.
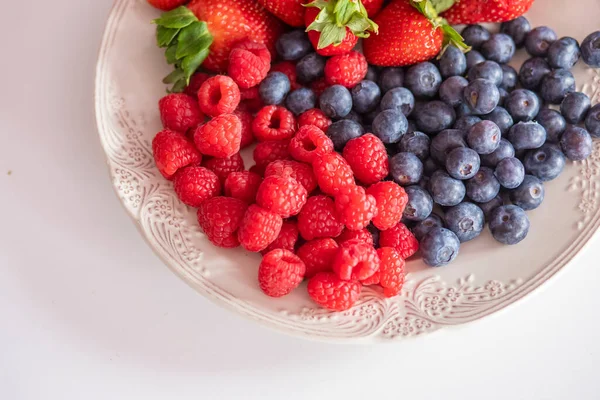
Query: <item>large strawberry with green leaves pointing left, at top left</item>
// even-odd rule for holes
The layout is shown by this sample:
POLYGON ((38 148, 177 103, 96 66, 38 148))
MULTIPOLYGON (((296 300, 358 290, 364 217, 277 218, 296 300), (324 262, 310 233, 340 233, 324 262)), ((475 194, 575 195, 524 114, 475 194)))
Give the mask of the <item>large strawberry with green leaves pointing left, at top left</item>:
POLYGON ((155 19, 159 47, 175 71, 164 83, 180 92, 200 65, 215 72, 227 71, 229 53, 243 40, 267 46, 275 54, 282 23, 255 0, 192 0, 155 19))

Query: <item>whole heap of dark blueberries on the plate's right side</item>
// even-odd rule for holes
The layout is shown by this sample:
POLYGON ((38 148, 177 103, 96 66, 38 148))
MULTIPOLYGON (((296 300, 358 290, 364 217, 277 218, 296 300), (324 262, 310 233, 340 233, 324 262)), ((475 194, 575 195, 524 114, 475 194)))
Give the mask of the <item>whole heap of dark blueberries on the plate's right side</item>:
MULTIPOLYGON (((592 107, 576 91, 569 71, 579 58, 600 67, 600 31, 580 46, 519 17, 500 33, 471 25, 462 35, 472 47, 466 54, 450 46, 437 60, 406 69, 369 66, 352 89, 331 86, 318 100, 304 89, 286 101, 291 110, 316 101, 334 121, 327 135, 340 152, 366 132, 385 143, 390 178, 409 197, 403 222, 432 266, 451 262, 486 222, 499 242, 522 241, 526 211, 542 203, 544 182, 567 160, 589 157, 592 137, 600 137, 600 104, 592 107), (517 72, 507 63, 521 47, 531 58, 517 72)), ((310 46, 297 34, 285 49, 310 46)), ((324 65, 316 53, 304 55, 298 80, 319 79, 324 65)))

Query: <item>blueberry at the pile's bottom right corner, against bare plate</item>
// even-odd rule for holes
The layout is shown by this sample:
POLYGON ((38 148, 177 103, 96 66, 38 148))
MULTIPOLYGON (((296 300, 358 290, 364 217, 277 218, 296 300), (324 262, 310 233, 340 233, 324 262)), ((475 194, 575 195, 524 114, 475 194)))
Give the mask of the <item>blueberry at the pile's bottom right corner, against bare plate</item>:
POLYGON ((529 218, 517 206, 500 206, 490 215, 490 231, 494 239, 503 244, 517 244, 529 232, 529 218))

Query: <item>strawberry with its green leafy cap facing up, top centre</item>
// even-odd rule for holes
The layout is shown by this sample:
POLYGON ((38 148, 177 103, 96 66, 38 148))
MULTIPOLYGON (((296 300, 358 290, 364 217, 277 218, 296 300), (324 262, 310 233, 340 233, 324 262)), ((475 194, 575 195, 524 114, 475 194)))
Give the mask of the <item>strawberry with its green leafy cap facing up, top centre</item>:
POLYGON ((315 0, 306 5, 304 23, 308 38, 322 56, 346 54, 358 38, 377 33, 361 0, 315 0))

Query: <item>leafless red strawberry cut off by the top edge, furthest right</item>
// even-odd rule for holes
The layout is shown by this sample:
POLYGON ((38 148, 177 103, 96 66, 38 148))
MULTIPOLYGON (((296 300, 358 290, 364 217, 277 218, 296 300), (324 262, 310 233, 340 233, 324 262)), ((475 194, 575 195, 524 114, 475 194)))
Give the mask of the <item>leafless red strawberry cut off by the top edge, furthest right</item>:
POLYGON ((532 4, 533 0, 457 0, 442 16, 451 24, 505 22, 520 17, 532 4))

